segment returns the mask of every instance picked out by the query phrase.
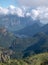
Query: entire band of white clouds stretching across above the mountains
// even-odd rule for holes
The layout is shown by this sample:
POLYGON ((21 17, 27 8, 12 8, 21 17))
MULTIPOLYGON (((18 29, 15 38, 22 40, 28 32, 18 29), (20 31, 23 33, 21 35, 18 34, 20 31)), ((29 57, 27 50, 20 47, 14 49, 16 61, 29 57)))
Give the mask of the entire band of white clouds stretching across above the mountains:
POLYGON ((18 15, 19 17, 30 16, 33 20, 39 19, 42 23, 48 23, 48 7, 37 7, 28 9, 27 7, 15 7, 10 5, 8 8, 0 7, 0 15, 18 15))

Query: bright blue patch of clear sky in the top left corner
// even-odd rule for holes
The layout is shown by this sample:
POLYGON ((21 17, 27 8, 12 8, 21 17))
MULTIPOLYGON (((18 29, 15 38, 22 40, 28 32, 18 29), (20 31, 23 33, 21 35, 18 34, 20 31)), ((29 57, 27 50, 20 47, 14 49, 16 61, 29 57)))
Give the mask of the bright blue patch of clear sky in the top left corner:
POLYGON ((17 0, 0 0, 0 6, 1 7, 8 7, 10 5, 17 6, 17 0))

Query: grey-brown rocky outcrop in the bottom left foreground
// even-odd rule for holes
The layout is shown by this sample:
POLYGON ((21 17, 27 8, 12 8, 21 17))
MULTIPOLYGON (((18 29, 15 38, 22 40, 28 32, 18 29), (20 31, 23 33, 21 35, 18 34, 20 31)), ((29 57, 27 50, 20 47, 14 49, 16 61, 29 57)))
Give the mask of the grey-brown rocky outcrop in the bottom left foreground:
POLYGON ((0 50, 0 62, 8 62, 11 56, 11 50, 1 49, 0 50))

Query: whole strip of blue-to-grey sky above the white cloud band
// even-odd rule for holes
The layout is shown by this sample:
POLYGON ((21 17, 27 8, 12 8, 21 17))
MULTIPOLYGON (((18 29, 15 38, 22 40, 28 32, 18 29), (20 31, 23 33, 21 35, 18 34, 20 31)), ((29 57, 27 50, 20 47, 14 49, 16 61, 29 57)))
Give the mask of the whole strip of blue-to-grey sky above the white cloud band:
POLYGON ((0 6, 8 7, 9 5, 15 6, 48 6, 48 0, 0 0, 0 6))

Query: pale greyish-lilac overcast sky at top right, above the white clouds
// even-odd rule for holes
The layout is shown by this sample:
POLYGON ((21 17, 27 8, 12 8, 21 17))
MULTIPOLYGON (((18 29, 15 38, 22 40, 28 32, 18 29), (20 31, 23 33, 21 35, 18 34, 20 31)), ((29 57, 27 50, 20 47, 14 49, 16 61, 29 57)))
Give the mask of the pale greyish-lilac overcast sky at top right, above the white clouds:
POLYGON ((20 5, 37 7, 48 6, 48 0, 17 0, 20 5))

